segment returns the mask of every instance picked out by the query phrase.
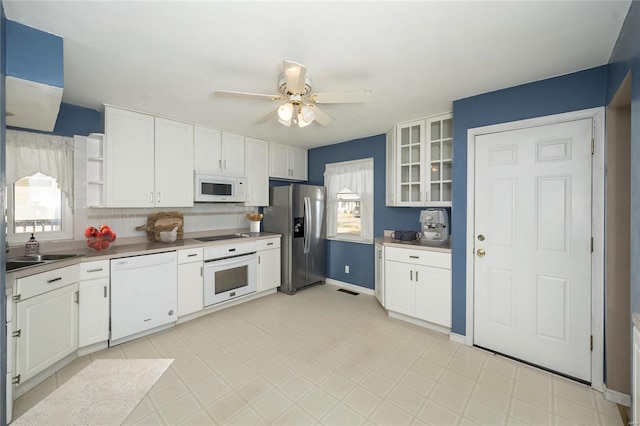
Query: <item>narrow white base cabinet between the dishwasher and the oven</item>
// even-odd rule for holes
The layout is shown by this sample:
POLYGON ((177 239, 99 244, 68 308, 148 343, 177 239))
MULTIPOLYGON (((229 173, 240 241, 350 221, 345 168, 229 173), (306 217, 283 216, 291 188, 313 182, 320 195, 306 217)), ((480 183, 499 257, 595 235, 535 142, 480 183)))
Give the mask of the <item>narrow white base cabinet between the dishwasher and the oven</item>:
POLYGON ((201 248, 178 250, 178 317, 204 309, 202 255, 201 248))

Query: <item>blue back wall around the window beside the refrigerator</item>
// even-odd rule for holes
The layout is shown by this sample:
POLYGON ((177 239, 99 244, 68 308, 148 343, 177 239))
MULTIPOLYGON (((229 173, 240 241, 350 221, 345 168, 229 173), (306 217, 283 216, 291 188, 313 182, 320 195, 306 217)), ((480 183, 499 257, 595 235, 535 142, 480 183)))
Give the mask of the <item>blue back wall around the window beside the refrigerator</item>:
MULTIPOLYGON (((420 208, 385 206, 386 188, 386 136, 377 135, 336 145, 309 150, 309 183, 324 184, 324 167, 327 163, 359 160, 373 157, 373 235, 382 236, 385 229, 420 230, 420 208)), ((374 246, 345 241, 329 241, 327 244, 327 277, 373 289, 374 246), (344 266, 350 273, 345 274, 344 266)))

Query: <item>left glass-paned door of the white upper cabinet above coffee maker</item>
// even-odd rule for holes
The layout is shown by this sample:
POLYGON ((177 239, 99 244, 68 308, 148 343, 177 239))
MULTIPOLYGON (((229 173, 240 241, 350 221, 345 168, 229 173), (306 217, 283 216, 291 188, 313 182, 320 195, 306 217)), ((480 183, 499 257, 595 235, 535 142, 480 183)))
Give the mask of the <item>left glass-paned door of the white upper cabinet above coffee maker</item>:
POLYGON ((405 123, 396 132, 396 190, 397 206, 425 204, 424 120, 405 123))

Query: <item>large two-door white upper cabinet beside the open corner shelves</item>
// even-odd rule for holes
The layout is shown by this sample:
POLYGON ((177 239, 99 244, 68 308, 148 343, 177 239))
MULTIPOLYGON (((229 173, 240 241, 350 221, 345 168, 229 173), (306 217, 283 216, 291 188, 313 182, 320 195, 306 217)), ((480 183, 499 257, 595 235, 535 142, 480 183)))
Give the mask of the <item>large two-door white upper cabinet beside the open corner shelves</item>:
POLYGON ((105 106, 106 207, 193 206, 193 125, 105 106))

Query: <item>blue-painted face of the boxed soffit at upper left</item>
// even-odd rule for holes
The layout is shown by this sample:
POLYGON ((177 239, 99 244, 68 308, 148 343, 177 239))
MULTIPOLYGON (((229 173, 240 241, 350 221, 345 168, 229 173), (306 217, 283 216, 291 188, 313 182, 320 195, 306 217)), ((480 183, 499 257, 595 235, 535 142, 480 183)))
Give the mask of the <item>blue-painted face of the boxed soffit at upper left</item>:
POLYGON ((7 75, 63 87, 62 37, 6 21, 7 75))

